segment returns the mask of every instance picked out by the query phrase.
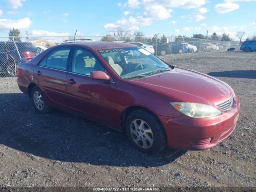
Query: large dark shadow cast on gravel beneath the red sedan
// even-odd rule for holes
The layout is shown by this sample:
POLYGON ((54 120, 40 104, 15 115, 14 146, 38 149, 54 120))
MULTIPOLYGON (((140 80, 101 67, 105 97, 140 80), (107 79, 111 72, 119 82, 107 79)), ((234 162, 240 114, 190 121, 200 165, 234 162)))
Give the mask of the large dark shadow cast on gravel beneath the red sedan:
POLYGON ((0 94, 0 106, 0 144, 28 156, 94 165, 154 167, 186 153, 166 148, 160 154, 144 154, 132 147, 124 133, 98 123, 60 110, 39 114, 22 93, 0 94))

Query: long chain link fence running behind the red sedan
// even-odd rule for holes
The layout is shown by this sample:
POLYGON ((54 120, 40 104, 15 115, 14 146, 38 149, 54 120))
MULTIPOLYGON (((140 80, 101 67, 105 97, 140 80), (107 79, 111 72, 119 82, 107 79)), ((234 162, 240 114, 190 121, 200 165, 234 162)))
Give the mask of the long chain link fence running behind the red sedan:
POLYGON ((168 54, 200 54, 228 50, 234 42, 212 41, 186 37, 157 36, 44 36, 0 37, 0 80, 16 77, 22 58, 34 57, 58 44, 86 41, 125 42, 138 45, 156 56, 168 54))

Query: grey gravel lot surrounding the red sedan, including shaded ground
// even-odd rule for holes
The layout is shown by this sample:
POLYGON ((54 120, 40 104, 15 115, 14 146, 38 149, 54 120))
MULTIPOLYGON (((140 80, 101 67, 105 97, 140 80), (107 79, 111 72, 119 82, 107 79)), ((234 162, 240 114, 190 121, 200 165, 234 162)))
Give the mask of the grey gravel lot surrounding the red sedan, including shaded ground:
POLYGON ((38 114, 13 78, 0 79, 0 185, 256 186, 256 53, 163 57, 227 82, 241 102, 234 133, 210 150, 138 152, 125 134, 55 110, 38 114))

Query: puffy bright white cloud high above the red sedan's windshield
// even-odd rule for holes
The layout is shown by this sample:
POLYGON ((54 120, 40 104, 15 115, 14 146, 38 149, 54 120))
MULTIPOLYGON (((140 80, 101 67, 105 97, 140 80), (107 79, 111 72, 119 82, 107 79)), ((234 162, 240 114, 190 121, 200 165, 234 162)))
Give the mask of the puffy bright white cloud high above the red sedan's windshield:
POLYGON ((164 20, 172 17, 171 12, 171 9, 167 10, 164 6, 152 5, 145 7, 144 15, 154 17, 155 20, 164 20))

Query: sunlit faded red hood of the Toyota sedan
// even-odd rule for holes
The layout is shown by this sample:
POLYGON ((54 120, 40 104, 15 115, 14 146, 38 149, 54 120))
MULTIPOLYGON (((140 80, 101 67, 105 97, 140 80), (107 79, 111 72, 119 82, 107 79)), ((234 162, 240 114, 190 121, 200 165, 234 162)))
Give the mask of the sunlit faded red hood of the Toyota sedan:
POLYGON ((214 105, 228 99, 232 94, 231 88, 224 82, 182 68, 133 80, 133 83, 169 96, 170 102, 214 105))

